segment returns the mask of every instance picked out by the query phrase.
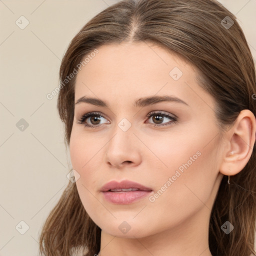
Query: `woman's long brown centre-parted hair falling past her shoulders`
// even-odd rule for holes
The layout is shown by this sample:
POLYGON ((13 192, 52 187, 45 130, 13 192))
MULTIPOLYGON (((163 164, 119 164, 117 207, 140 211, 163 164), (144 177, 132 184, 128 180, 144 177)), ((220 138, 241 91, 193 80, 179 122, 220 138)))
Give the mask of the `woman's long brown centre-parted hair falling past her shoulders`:
MULTIPOLYGON (((235 16, 215 0, 122 0, 104 9, 71 40, 61 62, 57 107, 69 145, 74 116, 75 76, 83 58, 106 43, 154 42, 196 67, 199 85, 216 101, 221 130, 231 125, 242 109, 256 115, 255 67, 235 16), (228 17, 226 17, 228 16, 228 17), (232 23, 233 22, 233 23, 232 23), (255 95, 255 94, 254 94, 255 95)), ((255 254, 256 220, 255 148, 236 175, 223 176, 210 215, 209 249, 214 256, 255 254), (234 229, 225 234, 228 220, 234 229)), ((78 249, 92 256, 100 249, 100 228, 86 213, 75 183, 67 185, 47 217, 40 234, 40 253, 68 256, 78 249)))

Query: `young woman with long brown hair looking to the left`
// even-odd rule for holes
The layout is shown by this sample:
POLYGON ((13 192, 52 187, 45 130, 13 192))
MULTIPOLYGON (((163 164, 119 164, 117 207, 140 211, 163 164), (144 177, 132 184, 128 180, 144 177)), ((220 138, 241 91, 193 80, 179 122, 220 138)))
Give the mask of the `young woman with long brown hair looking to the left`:
POLYGON ((255 254, 255 67, 232 13, 120 1, 75 35, 59 74, 76 182, 41 254, 255 254))

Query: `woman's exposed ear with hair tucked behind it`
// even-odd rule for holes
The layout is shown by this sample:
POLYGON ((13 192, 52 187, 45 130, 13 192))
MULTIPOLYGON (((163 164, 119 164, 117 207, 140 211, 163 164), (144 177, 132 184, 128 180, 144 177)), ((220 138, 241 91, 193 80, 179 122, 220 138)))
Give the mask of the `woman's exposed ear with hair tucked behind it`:
POLYGON ((220 173, 235 175, 244 168, 255 143, 255 129, 254 114, 248 109, 240 111, 233 126, 225 134, 228 146, 223 151, 220 173))

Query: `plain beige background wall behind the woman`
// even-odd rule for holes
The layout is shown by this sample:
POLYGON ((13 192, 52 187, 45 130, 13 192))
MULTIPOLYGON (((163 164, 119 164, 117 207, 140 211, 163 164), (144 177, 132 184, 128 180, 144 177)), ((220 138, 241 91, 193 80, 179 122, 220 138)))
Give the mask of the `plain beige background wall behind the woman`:
MULTIPOLYGON (((71 168, 56 111, 61 57, 72 37, 117 0, 0 0, 0 255, 35 256, 38 234, 71 168), (29 24, 24 28, 19 25, 29 24), (28 127, 19 130, 23 118, 28 127), (25 231, 25 224, 29 229, 25 231), (15 228, 16 227, 16 228, 15 228)), ((221 0, 256 58, 256 0, 221 0)))

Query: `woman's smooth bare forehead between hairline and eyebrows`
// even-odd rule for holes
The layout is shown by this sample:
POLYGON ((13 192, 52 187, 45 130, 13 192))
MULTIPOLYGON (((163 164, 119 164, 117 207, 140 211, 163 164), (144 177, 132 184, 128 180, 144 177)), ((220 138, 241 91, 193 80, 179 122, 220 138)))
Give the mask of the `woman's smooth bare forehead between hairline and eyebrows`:
POLYGON ((104 44, 97 50, 77 74, 75 100, 88 95, 122 102, 172 94, 196 105, 207 100, 213 107, 211 95, 198 86, 196 68, 157 44, 122 42, 104 44))

